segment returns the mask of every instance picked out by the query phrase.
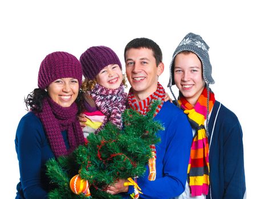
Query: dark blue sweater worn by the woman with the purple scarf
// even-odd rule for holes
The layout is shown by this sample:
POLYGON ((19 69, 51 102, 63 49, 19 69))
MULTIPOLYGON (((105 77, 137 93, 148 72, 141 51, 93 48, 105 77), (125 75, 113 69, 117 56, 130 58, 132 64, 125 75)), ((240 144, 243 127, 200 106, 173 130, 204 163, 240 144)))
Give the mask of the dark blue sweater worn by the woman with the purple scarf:
MULTIPOLYGON (((66 147, 67 132, 62 132, 66 147)), ((16 198, 47 198, 51 189, 46 176, 45 163, 54 157, 43 129, 42 122, 32 112, 27 113, 19 122, 15 148, 19 160, 20 182, 16 198)))

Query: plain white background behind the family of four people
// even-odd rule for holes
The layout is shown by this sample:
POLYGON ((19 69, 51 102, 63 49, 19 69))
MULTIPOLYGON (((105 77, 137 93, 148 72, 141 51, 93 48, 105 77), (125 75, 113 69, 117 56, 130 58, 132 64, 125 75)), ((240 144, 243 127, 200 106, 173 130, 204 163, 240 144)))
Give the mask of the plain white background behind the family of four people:
MULTIPOLYGON (((255 6, 253 1, 1 1, 1 196, 15 197, 19 168, 15 131, 26 114, 23 98, 37 87, 40 62, 54 51, 80 57, 92 45, 111 47, 124 66, 132 39, 146 37, 162 49, 166 87, 174 49, 188 32, 209 45, 216 99, 243 129, 247 198, 255 181, 255 6), (3 3, 5 2, 5 3, 3 3)), ((169 92, 170 93, 170 92, 169 92)), ((1 197, 2 198, 2 197, 1 197)))

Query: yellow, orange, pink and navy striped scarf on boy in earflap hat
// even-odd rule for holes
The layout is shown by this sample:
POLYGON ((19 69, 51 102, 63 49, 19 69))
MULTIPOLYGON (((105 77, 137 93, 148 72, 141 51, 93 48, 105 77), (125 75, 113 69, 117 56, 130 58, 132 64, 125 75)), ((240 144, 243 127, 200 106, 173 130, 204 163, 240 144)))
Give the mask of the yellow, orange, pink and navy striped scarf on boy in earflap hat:
POLYGON ((208 91, 206 88, 204 88, 194 106, 186 101, 181 94, 178 99, 181 109, 184 110, 185 114, 188 114, 190 125, 196 130, 188 165, 188 181, 192 197, 201 196, 201 194, 207 195, 209 190, 209 144, 204 122, 208 113, 212 110, 214 102, 214 93, 210 90, 209 105, 207 105, 208 91))

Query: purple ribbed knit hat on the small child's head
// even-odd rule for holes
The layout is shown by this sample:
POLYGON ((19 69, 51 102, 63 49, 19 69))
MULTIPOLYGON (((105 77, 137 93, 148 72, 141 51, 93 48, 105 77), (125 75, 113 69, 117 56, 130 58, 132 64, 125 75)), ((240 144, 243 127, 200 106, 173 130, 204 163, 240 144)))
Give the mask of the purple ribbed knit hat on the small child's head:
POLYGON ((88 48, 80 56, 83 75, 87 80, 94 80, 96 75, 109 64, 117 64, 122 69, 119 58, 116 53, 103 45, 88 48))

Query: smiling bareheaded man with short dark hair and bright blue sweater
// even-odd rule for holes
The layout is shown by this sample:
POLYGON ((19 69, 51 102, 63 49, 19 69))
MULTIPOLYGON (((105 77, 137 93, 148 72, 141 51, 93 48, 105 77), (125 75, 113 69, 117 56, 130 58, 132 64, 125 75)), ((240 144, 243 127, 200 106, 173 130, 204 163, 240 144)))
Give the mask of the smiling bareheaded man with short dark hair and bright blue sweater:
MULTIPOLYGON (((192 128, 186 115, 169 101, 164 102, 165 90, 158 82, 164 71, 162 52, 155 42, 147 38, 133 39, 124 50, 126 74, 131 89, 128 94, 129 107, 147 114, 154 100, 161 101, 155 119, 165 130, 159 132, 161 142, 152 146, 152 157, 144 177, 137 178, 141 188, 140 198, 171 198, 184 191, 188 168, 192 128)), ((131 176, 134 177, 134 176, 131 176)), ((136 187, 136 186, 135 186, 136 187)), ((123 196, 136 195, 139 188, 127 186, 120 179, 108 186, 108 193, 123 196), (135 192, 135 193, 133 193, 135 192)))

